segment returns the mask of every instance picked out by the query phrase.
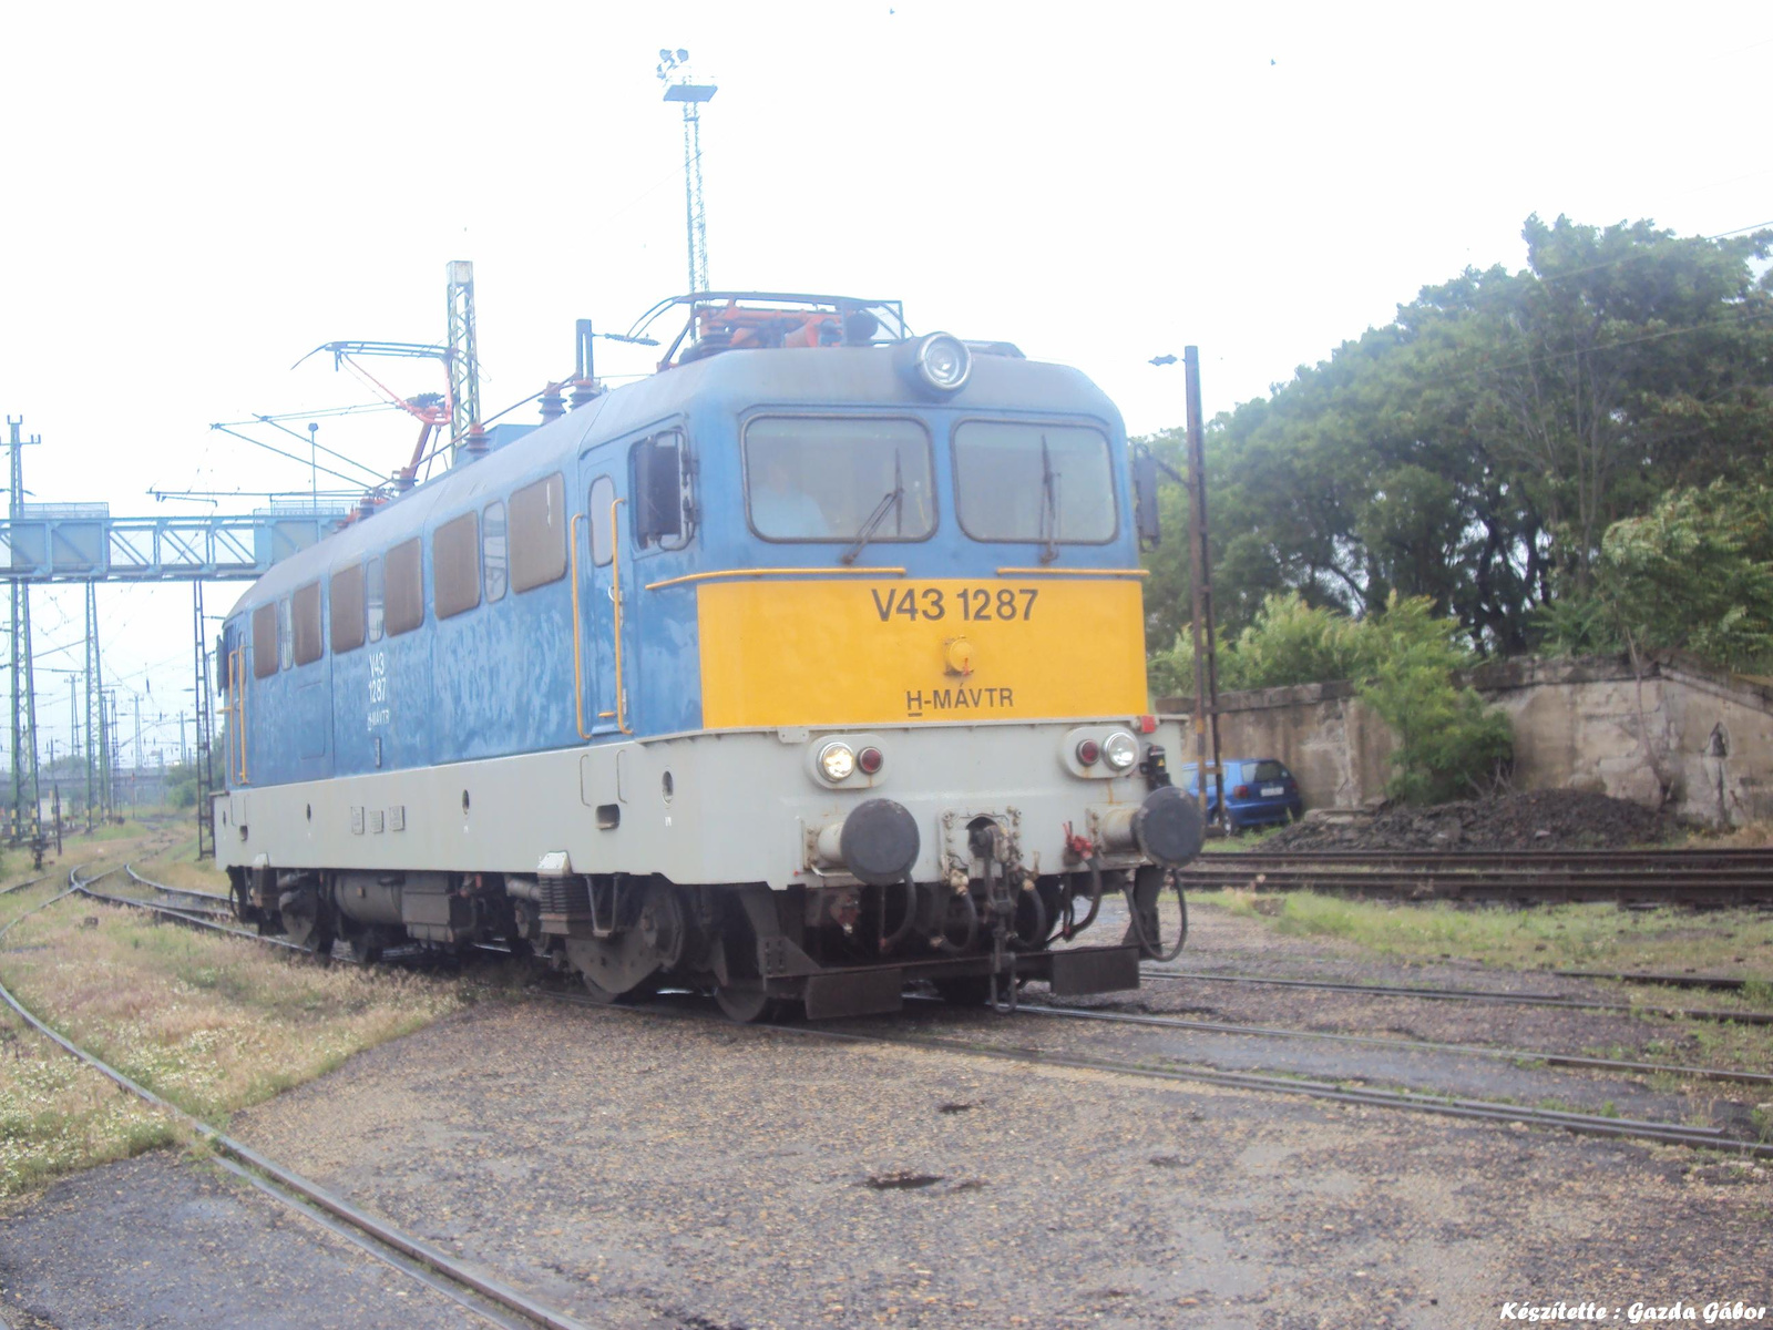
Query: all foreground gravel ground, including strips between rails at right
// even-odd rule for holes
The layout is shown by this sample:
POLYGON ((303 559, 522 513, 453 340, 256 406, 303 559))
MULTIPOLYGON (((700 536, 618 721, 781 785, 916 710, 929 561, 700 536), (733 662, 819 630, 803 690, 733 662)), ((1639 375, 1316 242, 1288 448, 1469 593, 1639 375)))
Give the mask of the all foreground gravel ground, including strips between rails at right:
MULTIPOLYGON (((1223 911, 1200 911, 1184 961, 1472 986, 1456 966, 1376 965, 1223 911)), ((1539 991, 1558 982, 1493 979, 1539 991)), ((1615 1027, 1642 1039, 1649 1025, 1199 981, 1152 982, 1133 1002, 1239 1023, 1569 1052, 1615 1027)), ((1768 1167, 736 1029, 702 1004, 674 1011, 543 997, 489 1004, 353 1057, 241 1114, 232 1131, 612 1330, 1438 1330, 1495 1325, 1511 1300, 1597 1300, 1621 1312, 1675 1298, 1773 1300, 1768 1167)), ((1034 1016, 922 1009, 856 1029, 1330 1066, 1308 1041, 1257 1039, 1236 1052, 1239 1041, 1223 1036, 1200 1043, 1034 1016)), ((1617 1078, 1401 1060, 1395 1050, 1337 1057, 1344 1073, 1365 1057, 1376 1080, 1445 1073, 1472 1078, 1468 1092, 1615 1103, 1638 1094, 1626 1103, 1668 1107, 1656 1098, 1665 1087, 1617 1078)), ((18 1318, 23 1326, 466 1319, 257 1193, 170 1156, 64 1181, 0 1218, 0 1309, 41 1318, 18 1318), (71 1250, 82 1252, 76 1266, 71 1250)))

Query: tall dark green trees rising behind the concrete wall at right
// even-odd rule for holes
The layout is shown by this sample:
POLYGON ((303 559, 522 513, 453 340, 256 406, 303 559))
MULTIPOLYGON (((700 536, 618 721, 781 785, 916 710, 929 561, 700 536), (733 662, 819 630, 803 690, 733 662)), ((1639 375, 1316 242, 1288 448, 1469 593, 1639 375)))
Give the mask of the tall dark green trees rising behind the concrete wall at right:
MULTIPOLYGON (((1597 594, 1608 528, 1674 489, 1761 473, 1773 277, 1755 261, 1773 231, 1711 241, 1532 216, 1523 238, 1525 270, 1424 287, 1394 323, 1211 422, 1227 640, 1275 594, 1360 617, 1397 592, 1484 653, 1605 649, 1608 614, 1541 610, 1597 594)), ((1181 431, 1149 443, 1181 463, 1181 431)), ((1179 488, 1160 509, 1147 628, 1170 642, 1190 617, 1179 488)), ((1729 649, 1739 635, 1723 628, 1729 649)))

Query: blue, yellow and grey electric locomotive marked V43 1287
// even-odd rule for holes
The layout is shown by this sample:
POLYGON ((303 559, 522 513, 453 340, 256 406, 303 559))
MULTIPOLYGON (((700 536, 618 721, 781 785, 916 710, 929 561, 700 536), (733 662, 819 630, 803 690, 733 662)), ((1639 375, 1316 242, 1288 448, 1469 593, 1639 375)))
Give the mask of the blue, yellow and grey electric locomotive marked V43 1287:
POLYGON ((330 952, 504 940, 738 1020, 1138 984, 1200 848, 1149 468, 1080 372, 702 294, 638 383, 371 507, 223 626, 218 860, 330 952), (1133 924, 1073 945, 1108 892, 1133 924))

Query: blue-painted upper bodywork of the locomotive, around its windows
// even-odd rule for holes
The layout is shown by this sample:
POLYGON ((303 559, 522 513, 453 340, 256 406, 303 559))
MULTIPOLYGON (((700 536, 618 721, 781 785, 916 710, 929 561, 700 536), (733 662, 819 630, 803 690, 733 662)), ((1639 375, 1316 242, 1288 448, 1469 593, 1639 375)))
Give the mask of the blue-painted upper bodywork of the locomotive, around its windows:
MULTIPOLYGON (((934 447, 938 520, 917 543, 872 543, 856 567, 904 567, 911 576, 995 576, 1002 566, 1039 564, 1032 543, 980 543, 954 518, 950 431, 972 415, 1092 424, 1108 434, 1117 525, 1106 544, 1064 544, 1055 567, 1133 567, 1138 562, 1126 466, 1126 433, 1110 401, 1080 372, 1005 356, 977 356, 968 385, 931 401, 897 378, 874 348, 730 351, 615 388, 560 420, 530 429, 477 461, 457 465, 374 516, 273 567, 239 599, 223 628, 223 651, 245 660, 245 778, 232 739, 229 786, 269 786, 457 763, 585 743, 574 697, 571 560, 567 576, 528 592, 507 592, 450 619, 436 619, 431 536, 438 525, 553 472, 564 477, 578 555, 583 731, 592 743, 622 736, 599 716, 613 709, 610 569, 592 566, 587 493, 608 475, 631 500, 631 449, 679 429, 693 459, 697 523, 683 550, 637 550, 633 504, 621 509, 619 575, 628 724, 637 736, 702 725, 695 585, 645 591, 699 571, 736 567, 832 567, 830 543, 768 543, 748 527, 739 438, 755 413, 881 413, 915 417, 934 447), (399 637, 280 669, 252 670, 252 610, 287 598, 316 578, 323 630, 330 624, 333 571, 422 537, 426 621, 399 637)), ((326 631, 330 638, 330 630, 326 631)), ((225 660, 227 656, 223 656, 225 660)), ((225 665, 223 665, 225 677, 225 665)), ((239 699, 230 699, 238 702, 239 699)))

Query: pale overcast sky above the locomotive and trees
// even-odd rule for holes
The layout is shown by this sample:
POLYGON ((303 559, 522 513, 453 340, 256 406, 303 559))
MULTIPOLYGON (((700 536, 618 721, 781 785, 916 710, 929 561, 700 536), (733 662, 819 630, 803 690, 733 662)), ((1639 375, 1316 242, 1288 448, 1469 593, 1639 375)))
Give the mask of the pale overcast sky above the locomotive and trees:
MULTIPOLYGON (((32 498, 307 488, 209 424, 369 401, 291 364, 441 340, 449 259, 475 262, 488 413, 567 374, 574 319, 626 330, 686 284, 667 44, 720 85, 715 287, 902 300, 920 332, 1082 367, 1133 433, 1181 419, 1151 356, 1199 344, 1207 413, 1230 408, 1424 284, 1521 266, 1534 211, 1773 220, 1753 4, 11 4, 0 410, 43 436, 32 498)), ((379 473, 415 436, 321 426, 379 473)), ((188 587, 99 605, 124 715, 129 690, 151 722, 188 706, 188 587)), ((80 592, 34 606, 39 669, 78 665, 80 592)), ((66 677, 37 683, 62 750, 66 677)))

